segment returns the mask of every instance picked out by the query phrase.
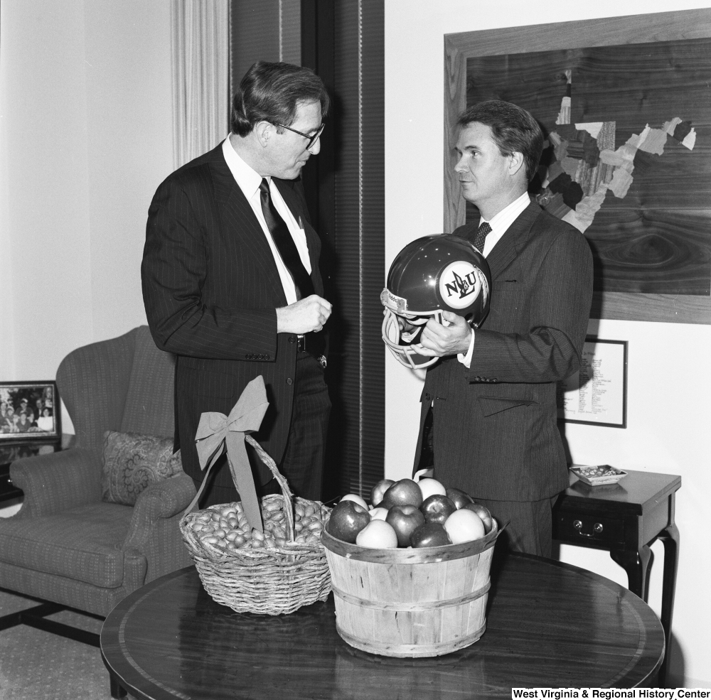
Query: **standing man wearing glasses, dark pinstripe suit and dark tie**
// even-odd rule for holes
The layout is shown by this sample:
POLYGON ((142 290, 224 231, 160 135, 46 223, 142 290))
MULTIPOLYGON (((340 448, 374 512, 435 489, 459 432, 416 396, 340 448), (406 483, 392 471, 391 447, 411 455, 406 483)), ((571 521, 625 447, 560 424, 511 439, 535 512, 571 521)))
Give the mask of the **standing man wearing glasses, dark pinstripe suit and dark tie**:
MULTIPOLYGON (((262 375, 269 409, 254 437, 296 495, 321 497, 331 409, 322 329, 331 303, 296 178, 321 149, 328 102, 311 70, 255 63, 232 101, 228 138, 169 176, 151 203, 146 316, 156 345, 176 355, 176 448, 196 488, 201 414, 230 414, 262 375)), ((260 483, 262 493, 277 491, 257 456, 250 460, 257 491, 260 483)), ((236 498, 222 462, 201 507, 236 498)))

